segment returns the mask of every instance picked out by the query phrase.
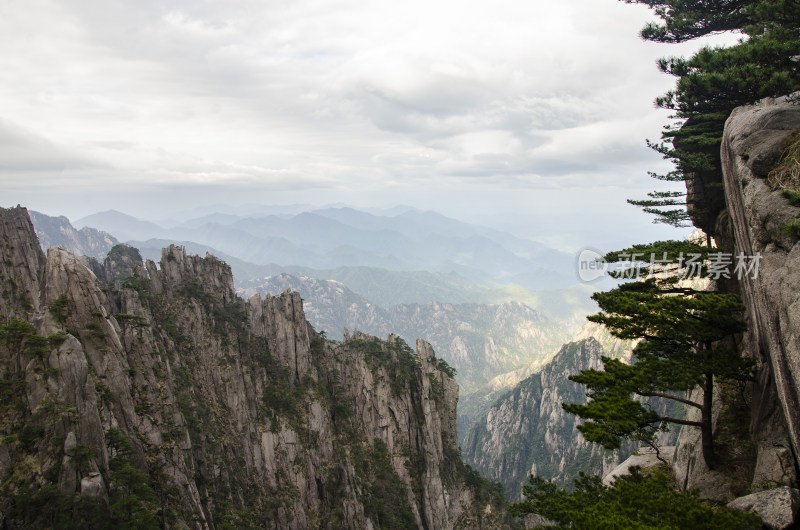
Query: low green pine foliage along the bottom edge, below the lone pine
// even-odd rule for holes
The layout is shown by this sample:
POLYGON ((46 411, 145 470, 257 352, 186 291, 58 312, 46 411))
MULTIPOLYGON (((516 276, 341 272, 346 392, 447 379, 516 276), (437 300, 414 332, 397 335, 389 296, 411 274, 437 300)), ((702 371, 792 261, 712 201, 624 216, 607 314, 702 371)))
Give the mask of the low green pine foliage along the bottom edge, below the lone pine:
POLYGON ((600 477, 584 475, 575 479, 572 491, 550 481, 531 477, 523 489, 526 500, 511 506, 517 517, 539 514, 553 523, 550 528, 575 530, 652 529, 715 530, 719 528, 760 528, 758 516, 715 509, 700 502, 696 493, 675 490, 662 471, 642 472, 631 468, 629 475, 610 486, 600 477))

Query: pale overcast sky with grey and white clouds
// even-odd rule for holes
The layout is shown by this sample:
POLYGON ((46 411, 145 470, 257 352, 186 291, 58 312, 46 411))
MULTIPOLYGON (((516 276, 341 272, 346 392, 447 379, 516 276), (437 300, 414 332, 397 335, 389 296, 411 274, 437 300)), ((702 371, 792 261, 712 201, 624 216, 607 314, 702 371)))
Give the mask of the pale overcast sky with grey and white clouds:
POLYGON ((655 59, 698 44, 641 41, 651 18, 618 0, 0 2, 0 204, 407 204, 563 248, 661 237, 625 198, 665 169, 644 143, 673 84, 655 59))

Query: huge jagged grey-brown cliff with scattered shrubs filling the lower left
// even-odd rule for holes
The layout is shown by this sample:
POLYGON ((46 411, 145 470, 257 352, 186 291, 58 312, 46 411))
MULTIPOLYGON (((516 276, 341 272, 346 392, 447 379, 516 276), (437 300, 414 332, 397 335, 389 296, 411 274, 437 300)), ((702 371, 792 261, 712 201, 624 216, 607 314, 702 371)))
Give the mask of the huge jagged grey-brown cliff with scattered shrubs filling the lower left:
POLYGON ((504 526, 427 343, 327 342, 180 247, 45 256, 23 208, 0 237, 0 527, 504 526))

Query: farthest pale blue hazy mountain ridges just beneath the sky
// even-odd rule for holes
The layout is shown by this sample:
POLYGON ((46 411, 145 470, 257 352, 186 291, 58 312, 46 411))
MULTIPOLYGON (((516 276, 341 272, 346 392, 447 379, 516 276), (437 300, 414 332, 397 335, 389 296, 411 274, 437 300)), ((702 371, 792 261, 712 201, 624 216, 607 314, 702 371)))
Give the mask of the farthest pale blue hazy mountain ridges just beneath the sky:
POLYGON ((288 216, 208 214, 164 227, 108 211, 76 224, 127 242, 193 242, 257 265, 424 270, 457 273, 485 287, 513 282, 534 290, 576 283, 571 255, 435 212, 376 215, 325 208, 288 216))

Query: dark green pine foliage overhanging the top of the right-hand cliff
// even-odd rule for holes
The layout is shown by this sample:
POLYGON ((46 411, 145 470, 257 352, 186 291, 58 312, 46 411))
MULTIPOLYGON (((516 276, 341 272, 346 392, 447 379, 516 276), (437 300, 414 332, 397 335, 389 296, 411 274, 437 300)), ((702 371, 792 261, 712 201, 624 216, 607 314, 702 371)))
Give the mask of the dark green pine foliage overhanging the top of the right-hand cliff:
POLYGON ((674 162, 675 169, 651 176, 671 182, 691 179, 700 187, 691 204, 685 193, 673 191, 629 201, 655 214, 656 222, 680 226, 691 220, 709 232, 724 208, 720 145, 728 115, 740 105, 800 89, 800 69, 793 62, 800 49, 800 7, 794 0, 627 1, 652 8, 661 19, 642 30, 647 40, 676 43, 725 31, 744 36, 736 45, 705 47, 689 59, 659 61, 659 68, 677 83, 656 104, 673 111, 677 122, 664 127, 661 143, 649 145, 674 162))

